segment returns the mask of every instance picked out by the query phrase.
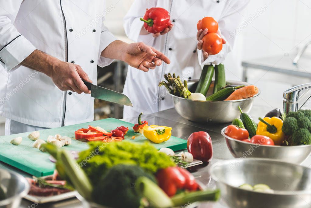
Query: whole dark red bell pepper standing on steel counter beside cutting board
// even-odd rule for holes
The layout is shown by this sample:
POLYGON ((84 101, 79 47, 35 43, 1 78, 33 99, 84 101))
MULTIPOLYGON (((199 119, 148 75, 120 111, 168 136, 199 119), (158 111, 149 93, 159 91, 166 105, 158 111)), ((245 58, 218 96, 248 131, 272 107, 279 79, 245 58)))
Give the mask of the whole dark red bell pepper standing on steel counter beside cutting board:
POLYGON ((209 162, 213 158, 212 140, 205 131, 192 133, 187 140, 187 149, 194 159, 202 162, 209 162))

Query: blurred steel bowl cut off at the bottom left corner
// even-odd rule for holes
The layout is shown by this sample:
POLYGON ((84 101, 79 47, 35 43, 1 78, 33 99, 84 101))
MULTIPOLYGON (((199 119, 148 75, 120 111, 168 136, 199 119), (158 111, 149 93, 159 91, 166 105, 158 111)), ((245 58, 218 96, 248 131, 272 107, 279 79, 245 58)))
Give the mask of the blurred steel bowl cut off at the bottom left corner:
POLYGON ((18 208, 21 199, 29 191, 29 183, 20 174, 0 169, 0 191, 5 195, 5 199, 0 201, 0 208, 18 208))

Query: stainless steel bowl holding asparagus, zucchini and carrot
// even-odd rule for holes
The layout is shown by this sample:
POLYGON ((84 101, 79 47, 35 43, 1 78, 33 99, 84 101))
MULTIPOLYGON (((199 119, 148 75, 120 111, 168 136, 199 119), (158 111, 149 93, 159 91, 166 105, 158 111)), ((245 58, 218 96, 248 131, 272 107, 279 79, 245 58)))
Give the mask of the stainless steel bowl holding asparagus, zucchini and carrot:
MULTIPOLYGON (((188 82, 188 87, 191 92, 195 90, 193 86, 196 86, 197 82, 198 80, 188 82)), ((227 84, 249 85, 246 82, 237 81, 227 81, 227 84)), ((212 94, 212 86, 213 83, 207 92, 207 96, 212 94)), ((249 112, 253 106, 254 98, 259 94, 260 91, 258 91, 253 97, 233 101, 196 101, 172 94, 169 95, 173 97, 174 107, 178 114, 187 120, 196 122, 229 123, 240 116, 238 106, 240 106, 245 113, 249 112)))

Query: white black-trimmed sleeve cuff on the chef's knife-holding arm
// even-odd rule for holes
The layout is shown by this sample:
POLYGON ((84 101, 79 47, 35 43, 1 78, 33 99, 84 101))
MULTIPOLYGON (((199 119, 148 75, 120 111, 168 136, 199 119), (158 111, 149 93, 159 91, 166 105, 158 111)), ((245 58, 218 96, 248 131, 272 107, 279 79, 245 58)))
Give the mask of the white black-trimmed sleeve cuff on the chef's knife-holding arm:
POLYGON ((34 50, 36 48, 29 40, 22 35, 18 35, 0 50, 0 64, 9 72, 34 50))

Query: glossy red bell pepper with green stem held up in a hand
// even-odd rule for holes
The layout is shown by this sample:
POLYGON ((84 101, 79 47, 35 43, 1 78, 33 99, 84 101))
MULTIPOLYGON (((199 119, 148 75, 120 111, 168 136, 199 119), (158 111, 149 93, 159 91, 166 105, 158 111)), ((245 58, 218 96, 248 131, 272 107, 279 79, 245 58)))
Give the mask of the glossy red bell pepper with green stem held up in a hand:
POLYGON ((150 33, 162 32, 171 25, 170 14, 167 10, 160 7, 152 7, 145 13, 144 18, 140 18, 145 22, 144 27, 150 33))

